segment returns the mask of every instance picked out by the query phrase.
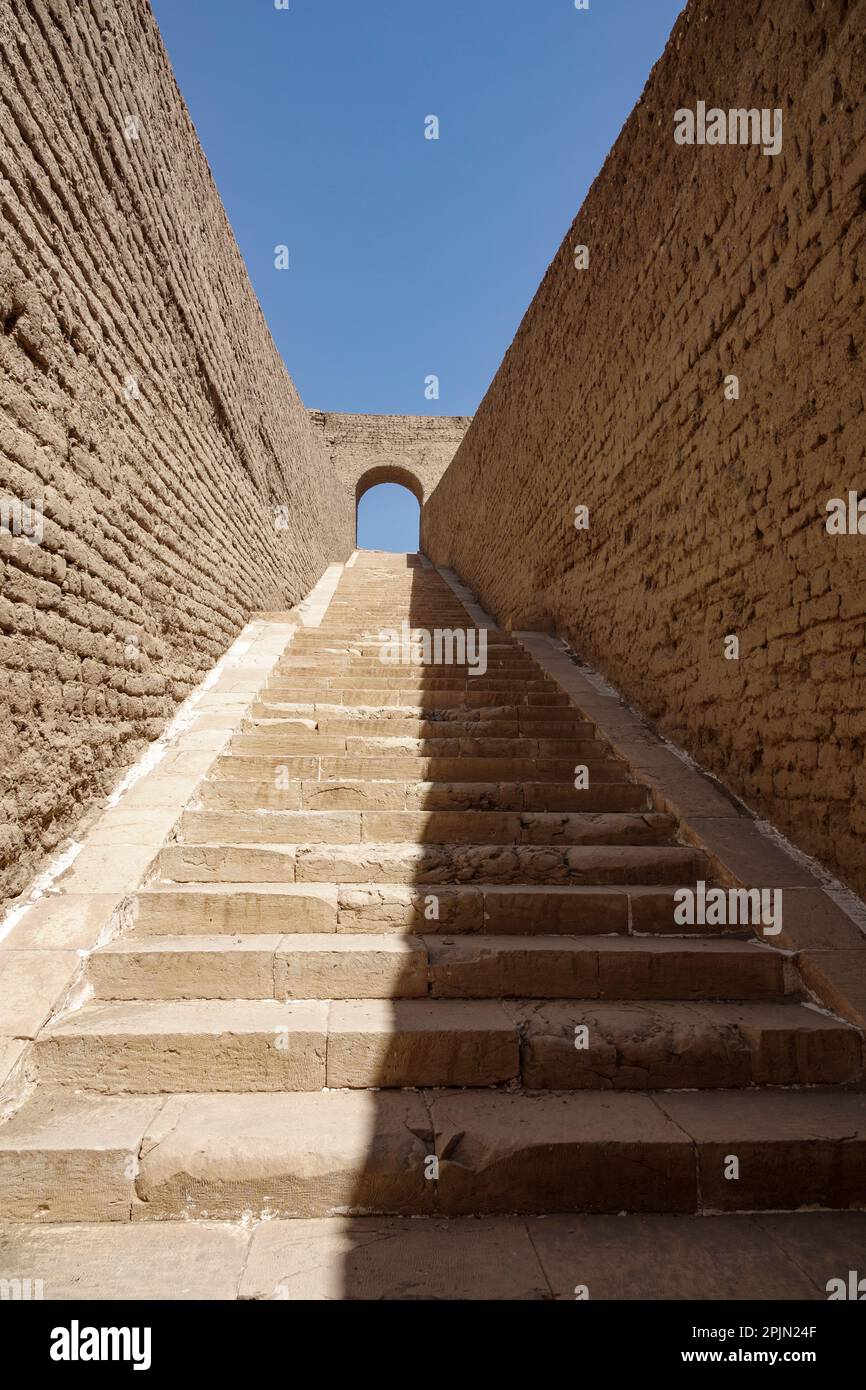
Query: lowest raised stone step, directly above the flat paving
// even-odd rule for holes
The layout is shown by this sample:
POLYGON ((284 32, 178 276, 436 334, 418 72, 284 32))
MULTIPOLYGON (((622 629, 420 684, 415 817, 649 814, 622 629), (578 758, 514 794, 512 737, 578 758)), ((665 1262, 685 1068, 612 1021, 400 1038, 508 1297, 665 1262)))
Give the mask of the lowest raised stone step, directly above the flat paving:
POLYGON ((824 1088, 43 1094, 0 1127, 21 1222, 844 1211, 865 1190, 866 1095, 824 1088))

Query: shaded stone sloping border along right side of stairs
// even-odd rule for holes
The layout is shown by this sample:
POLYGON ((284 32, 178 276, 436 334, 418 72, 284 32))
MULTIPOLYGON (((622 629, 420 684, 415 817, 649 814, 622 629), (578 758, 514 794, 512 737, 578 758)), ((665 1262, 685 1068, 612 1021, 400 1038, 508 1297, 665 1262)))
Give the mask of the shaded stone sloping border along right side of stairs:
MULTIPOLYGON (((488 630, 495 620, 449 569, 442 578, 470 617, 488 630)), ((866 903, 790 845, 767 821, 664 739, 598 671, 549 632, 512 637, 564 689, 614 755, 649 788, 653 809, 680 821, 680 835, 703 849, 726 887, 781 888, 783 930, 767 944, 791 952, 805 991, 859 1029, 866 1029, 866 903)))

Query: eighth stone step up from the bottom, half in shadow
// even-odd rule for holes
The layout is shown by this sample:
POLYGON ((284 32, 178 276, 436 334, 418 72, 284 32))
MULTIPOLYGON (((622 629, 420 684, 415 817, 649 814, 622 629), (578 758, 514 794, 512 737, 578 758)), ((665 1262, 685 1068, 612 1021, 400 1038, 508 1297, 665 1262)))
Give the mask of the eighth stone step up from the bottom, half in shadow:
MULTIPOLYGON (((626 781, 627 769, 616 759, 584 759, 589 785, 594 781, 626 781)), ((229 753, 218 758, 209 770, 211 781, 267 781, 277 778, 361 780, 361 781, 431 781, 431 783, 570 783, 574 780, 573 758, 354 758, 346 753, 316 758, 274 753, 246 756, 229 753)))

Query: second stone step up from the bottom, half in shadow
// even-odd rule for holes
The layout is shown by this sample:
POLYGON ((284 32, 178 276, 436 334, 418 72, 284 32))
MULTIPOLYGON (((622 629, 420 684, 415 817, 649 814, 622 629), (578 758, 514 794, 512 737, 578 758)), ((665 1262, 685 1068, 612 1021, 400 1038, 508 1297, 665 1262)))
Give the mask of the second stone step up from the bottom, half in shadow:
MULTIPOLYGON (((288 962, 293 967, 299 979, 317 974, 303 959, 288 962)), ((617 1009, 575 999, 570 1009, 557 1001, 507 1011, 495 1001, 450 998, 135 999, 96 1001, 49 1026, 36 1044, 36 1069, 43 1086, 81 1087, 83 1074, 89 1090, 111 1094, 516 1079, 532 1088, 692 1090, 856 1083, 860 1054, 855 1029, 766 1002, 713 1012, 709 1004, 670 1001, 617 1009)))

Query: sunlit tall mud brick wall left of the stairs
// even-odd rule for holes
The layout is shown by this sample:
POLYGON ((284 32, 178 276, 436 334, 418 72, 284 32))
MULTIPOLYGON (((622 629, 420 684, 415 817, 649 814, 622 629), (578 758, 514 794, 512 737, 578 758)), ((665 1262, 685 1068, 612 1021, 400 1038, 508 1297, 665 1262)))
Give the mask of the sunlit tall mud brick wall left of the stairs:
POLYGON ((349 542, 147 4, 3 0, 0 58, 0 499, 44 503, 0 530, 1 897, 349 542))

